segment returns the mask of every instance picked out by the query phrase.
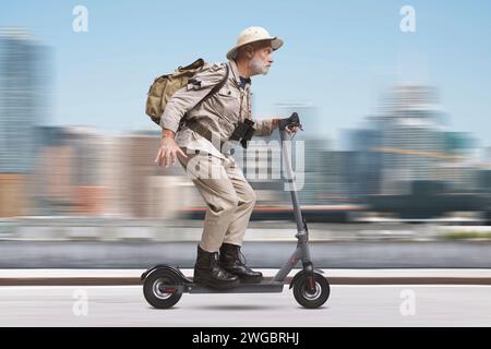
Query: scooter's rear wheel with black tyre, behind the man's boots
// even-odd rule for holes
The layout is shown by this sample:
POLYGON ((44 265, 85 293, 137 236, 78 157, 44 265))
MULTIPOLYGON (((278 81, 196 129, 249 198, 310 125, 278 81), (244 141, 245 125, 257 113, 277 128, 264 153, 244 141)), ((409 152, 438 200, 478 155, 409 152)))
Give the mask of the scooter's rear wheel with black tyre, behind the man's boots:
POLYGON ((155 270, 143 284, 146 301, 157 309, 169 309, 182 297, 182 280, 172 272, 155 270))

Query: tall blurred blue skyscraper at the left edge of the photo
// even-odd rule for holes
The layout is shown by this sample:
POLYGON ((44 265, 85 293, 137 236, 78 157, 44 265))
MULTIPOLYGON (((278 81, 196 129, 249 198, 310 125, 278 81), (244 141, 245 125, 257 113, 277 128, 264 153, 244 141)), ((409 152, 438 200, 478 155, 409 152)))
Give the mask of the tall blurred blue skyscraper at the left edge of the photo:
POLYGON ((50 51, 25 28, 0 28, 0 217, 28 215, 37 124, 49 116, 50 51))

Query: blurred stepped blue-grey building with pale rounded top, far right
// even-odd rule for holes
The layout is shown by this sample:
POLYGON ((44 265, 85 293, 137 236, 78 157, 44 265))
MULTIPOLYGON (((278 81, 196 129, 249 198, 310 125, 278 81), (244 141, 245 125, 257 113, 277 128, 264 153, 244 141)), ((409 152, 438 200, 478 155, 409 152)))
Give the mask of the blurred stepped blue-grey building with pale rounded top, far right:
POLYGON ((350 133, 359 156, 356 193, 369 209, 407 218, 486 210, 479 192, 477 142, 452 132, 430 86, 395 86, 381 98, 366 130, 350 133))

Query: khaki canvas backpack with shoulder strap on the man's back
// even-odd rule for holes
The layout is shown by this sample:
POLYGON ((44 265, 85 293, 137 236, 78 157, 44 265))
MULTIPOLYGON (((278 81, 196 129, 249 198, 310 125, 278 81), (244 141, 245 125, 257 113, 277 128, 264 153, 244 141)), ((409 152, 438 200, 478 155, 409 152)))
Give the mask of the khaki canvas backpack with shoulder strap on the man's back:
MULTIPOLYGON (((146 99, 145 112, 152 118, 152 121, 160 125, 160 117, 164 113, 167 103, 170 97, 184 87, 188 82, 206 64, 203 59, 197 59, 193 63, 187 67, 179 67, 172 74, 166 74, 155 79, 154 83, 151 85, 146 99)), ((224 80, 218 83, 205 98, 200 103, 208 98, 212 94, 221 88, 228 79, 228 67, 227 74, 224 80)))

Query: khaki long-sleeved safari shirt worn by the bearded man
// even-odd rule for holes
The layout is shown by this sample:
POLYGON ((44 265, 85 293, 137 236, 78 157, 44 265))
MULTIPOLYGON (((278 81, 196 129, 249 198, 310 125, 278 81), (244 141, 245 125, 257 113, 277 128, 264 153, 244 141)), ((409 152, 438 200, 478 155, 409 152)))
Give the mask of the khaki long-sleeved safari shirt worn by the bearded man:
MULTIPOLYGON (((185 127, 180 128, 180 121, 184 115, 187 119, 199 118, 200 123, 214 134, 221 140, 228 140, 239 121, 252 119, 250 83, 247 83, 244 88, 240 87, 239 71, 235 61, 206 64, 194 75, 194 81, 172 95, 161 116, 160 125, 176 133, 176 143, 180 147, 206 152, 220 158, 224 158, 224 155, 228 157, 229 152, 221 154, 208 140, 185 127), (223 81, 226 64, 229 68, 227 82, 218 92, 200 104, 213 87, 223 81)), ((253 127, 254 135, 270 135, 273 132, 273 120, 255 121, 253 127)))

